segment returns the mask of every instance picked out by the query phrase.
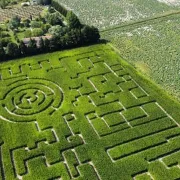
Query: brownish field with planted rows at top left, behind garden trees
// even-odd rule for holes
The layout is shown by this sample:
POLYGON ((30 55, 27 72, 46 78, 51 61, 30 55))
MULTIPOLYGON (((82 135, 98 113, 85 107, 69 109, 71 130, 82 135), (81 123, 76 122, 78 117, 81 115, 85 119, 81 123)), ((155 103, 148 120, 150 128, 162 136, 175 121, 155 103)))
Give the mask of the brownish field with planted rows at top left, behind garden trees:
POLYGON ((11 19, 14 16, 21 18, 29 18, 30 16, 38 16, 43 10, 43 6, 26 6, 26 7, 15 7, 12 9, 1 9, 0 8, 0 22, 7 19, 11 19))

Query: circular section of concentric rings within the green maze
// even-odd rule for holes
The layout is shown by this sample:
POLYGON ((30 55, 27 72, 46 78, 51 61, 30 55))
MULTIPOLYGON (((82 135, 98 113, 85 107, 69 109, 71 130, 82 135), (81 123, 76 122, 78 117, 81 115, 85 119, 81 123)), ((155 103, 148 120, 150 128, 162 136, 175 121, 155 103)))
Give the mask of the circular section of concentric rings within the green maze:
POLYGON ((63 100, 61 88, 48 80, 26 79, 10 85, 5 94, 3 117, 10 121, 33 121, 36 115, 57 110, 63 100))

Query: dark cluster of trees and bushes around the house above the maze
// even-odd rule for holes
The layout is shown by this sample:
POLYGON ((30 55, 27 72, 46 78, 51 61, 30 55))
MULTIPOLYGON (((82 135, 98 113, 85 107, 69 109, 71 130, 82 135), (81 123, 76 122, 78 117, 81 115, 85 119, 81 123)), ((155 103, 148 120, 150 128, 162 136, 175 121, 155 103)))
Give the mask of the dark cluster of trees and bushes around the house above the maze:
MULTIPOLYGON (((51 11, 52 9, 50 8, 49 10, 51 11)), ((17 43, 9 40, 7 34, 0 33, 0 36, 3 36, 3 38, 0 38, 0 60, 74 48, 99 41, 100 35, 97 28, 81 24, 72 11, 66 10, 65 13, 65 10, 62 9, 61 13, 62 11, 64 11, 63 15, 66 15, 64 17, 66 25, 61 16, 58 15, 58 12, 48 13, 45 18, 39 17, 40 19, 38 20, 24 20, 23 25, 31 27, 31 29, 29 28, 25 31, 25 37, 36 37, 29 39, 26 44, 18 40, 16 32, 14 32, 14 38, 17 38, 17 43), (48 23, 46 24, 46 22, 48 23), (42 25, 47 25, 48 27, 45 27, 44 30, 42 25), (48 32, 48 38, 41 37, 45 32, 48 32)), ((17 30, 20 24, 22 24, 21 20, 18 17, 14 17, 9 22, 9 28, 17 30)))

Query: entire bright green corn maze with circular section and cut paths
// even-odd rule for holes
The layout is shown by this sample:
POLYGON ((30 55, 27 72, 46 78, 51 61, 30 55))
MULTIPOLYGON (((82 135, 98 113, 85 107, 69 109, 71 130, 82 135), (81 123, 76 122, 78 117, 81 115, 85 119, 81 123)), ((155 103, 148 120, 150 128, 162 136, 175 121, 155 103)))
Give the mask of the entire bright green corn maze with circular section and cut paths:
POLYGON ((3 63, 0 179, 178 180, 178 121, 105 45, 3 63))

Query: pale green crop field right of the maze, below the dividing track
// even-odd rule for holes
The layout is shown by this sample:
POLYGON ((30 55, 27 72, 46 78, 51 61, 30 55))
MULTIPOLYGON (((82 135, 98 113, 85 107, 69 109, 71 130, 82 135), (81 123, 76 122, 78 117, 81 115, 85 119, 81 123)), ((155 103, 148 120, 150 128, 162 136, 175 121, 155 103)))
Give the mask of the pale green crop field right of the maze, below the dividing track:
POLYGON ((180 99, 180 15, 102 34, 121 55, 180 99))

